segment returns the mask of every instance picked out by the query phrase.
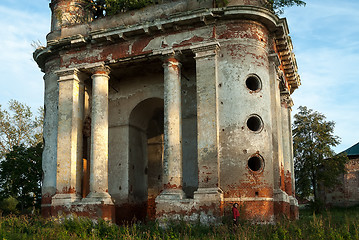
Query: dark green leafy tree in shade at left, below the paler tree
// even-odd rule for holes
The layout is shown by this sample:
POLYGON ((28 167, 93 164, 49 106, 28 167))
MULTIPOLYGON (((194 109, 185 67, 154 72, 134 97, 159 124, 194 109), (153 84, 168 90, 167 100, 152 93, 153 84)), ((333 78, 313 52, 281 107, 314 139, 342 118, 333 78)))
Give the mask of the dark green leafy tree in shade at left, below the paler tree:
POLYGON ((9 199, 17 200, 17 208, 21 212, 40 206, 42 150, 42 143, 32 147, 14 146, 0 162, 2 206, 5 206, 9 199))

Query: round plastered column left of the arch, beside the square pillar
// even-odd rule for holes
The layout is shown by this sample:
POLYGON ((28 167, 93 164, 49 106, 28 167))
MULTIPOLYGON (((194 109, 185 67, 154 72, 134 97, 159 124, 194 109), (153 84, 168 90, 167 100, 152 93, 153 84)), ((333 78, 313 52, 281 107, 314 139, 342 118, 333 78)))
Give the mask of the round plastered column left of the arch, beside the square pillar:
POLYGON ((109 69, 93 69, 91 112, 90 193, 86 201, 113 204, 108 194, 109 69))

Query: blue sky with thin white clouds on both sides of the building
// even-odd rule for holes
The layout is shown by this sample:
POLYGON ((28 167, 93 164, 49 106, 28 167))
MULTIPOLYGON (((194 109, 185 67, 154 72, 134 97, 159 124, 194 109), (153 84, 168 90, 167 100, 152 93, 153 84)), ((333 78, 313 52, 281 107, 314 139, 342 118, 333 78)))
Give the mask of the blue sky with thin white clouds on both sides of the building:
MULTIPOLYGON (((49 0, 0 1, 0 105, 10 99, 33 111, 43 105, 43 73, 32 60, 32 42, 46 43, 49 0)), ((302 86, 292 95, 300 105, 336 122, 345 150, 359 141, 359 1, 307 0, 285 9, 302 86)))

